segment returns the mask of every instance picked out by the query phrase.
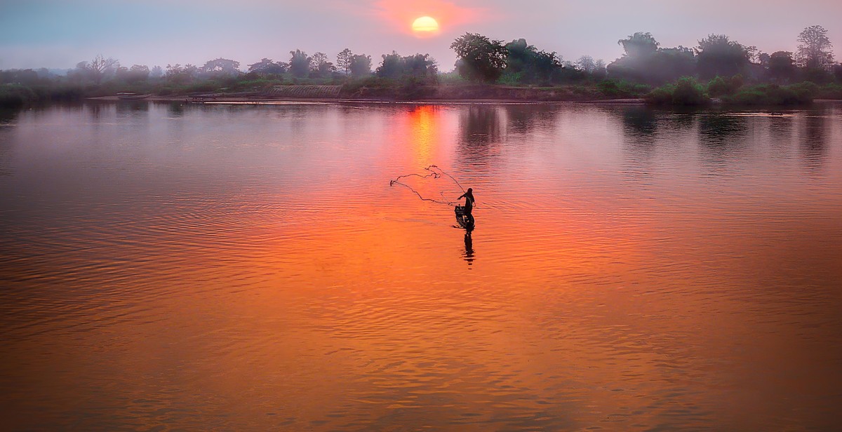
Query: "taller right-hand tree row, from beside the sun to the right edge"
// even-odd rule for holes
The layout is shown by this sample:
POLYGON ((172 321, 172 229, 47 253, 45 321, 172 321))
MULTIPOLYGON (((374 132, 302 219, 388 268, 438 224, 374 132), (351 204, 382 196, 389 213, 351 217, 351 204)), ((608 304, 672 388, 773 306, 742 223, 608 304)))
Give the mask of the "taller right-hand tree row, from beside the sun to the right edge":
POLYGON ((482 83, 563 83, 587 77, 614 78, 658 85, 679 77, 743 77, 755 81, 794 83, 842 81, 842 65, 834 62, 833 45, 820 25, 804 29, 797 37, 796 52, 759 51, 727 35, 708 35, 693 48, 662 47, 651 33, 637 32, 618 40, 623 54, 605 65, 583 56, 562 61, 555 52, 539 51, 525 40, 490 40, 466 33, 450 45, 459 61, 461 77, 482 83))

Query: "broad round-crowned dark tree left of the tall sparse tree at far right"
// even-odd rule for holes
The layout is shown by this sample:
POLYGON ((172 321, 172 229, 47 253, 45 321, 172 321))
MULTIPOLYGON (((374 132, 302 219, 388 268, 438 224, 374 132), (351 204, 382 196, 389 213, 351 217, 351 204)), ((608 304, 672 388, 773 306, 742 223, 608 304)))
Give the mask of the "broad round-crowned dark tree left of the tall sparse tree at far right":
POLYGON ((731 77, 749 66, 749 51, 726 35, 708 35, 695 51, 696 67, 704 78, 731 77))

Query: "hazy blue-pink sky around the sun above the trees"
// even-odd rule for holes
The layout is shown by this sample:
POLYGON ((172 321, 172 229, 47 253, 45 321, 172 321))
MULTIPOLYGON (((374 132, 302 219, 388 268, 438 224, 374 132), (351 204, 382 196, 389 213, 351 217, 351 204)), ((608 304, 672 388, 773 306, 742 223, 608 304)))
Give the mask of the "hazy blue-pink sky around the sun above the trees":
POLYGON ((617 40, 637 31, 664 47, 724 34, 774 52, 795 51, 814 24, 842 59, 842 0, 0 0, 0 69, 68 68, 97 55, 126 67, 222 57, 246 69, 264 57, 289 61, 296 49, 335 61, 349 48, 374 67, 392 51, 429 54, 446 72, 450 43, 466 32, 609 63, 622 54, 617 40), (413 34, 424 15, 439 22, 437 35, 413 34))

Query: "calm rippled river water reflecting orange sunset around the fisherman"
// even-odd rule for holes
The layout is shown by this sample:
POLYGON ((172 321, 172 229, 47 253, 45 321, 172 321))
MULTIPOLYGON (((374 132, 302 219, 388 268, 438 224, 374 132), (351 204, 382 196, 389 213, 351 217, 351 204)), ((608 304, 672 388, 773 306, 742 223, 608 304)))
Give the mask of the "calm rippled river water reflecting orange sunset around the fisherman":
POLYGON ((842 104, 29 110, 0 229, 3 429, 842 421, 842 104))

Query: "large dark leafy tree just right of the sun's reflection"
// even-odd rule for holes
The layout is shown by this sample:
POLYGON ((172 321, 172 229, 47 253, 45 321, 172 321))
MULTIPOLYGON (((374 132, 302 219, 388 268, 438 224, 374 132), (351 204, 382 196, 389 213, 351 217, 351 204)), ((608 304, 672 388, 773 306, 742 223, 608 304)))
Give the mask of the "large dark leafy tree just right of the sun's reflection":
POLYGON ((466 33, 450 44, 461 62, 458 72, 461 77, 471 81, 494 83, 506 68, 509 51, 502 40, 489 40, 483 35, 466 33))

